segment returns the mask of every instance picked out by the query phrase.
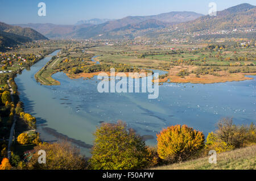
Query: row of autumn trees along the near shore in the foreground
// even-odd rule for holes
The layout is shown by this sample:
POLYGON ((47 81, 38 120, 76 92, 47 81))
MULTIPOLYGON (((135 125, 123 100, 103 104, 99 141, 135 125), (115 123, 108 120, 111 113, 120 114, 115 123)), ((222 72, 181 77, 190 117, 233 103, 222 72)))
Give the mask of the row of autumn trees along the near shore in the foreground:
MULTIPOLYGON (((208 133, 197 131, 187 125, 173 125, 156 134, 156 146, 147 146, 139 134, 127 128, 122 121, 116 124, 102 123, 94 133, 94 145, 89 160, 68 142, 49 144, 40 142, 32 150, 27 163, 20 161, 13 169, 148 169, 151 167, 180 163, 188 159, 255 145, 255 125, 235 125, 232 119, 218 121, 217 129, 208 133), (47 164, 38 163, 39 150, 46 150, 47 164)), ((22 136, 20 136, 22 137, 22 136)), ((19 143, 28 140, 26 135, 19 143)), ((2 165, 8 162, 3 159, 2 165)), ((7 164, 8 165, 8 164, 7 164)), ((2 166, 3 167, 3 166, 2 166)), ((11 169, 9 167, 9 169, 11 169)), ((1 168, 1 166, 0 166, 1 168)))

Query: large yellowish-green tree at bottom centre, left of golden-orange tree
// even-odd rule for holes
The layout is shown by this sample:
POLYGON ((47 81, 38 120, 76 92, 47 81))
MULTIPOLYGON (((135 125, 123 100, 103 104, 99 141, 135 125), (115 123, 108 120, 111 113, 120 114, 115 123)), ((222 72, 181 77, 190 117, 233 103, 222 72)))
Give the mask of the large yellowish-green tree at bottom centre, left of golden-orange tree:
POLYGON ((144 169, 148 166, 145 142, 125 123, 102 123, 94 133, 90 167, 95 170, 144 169))

